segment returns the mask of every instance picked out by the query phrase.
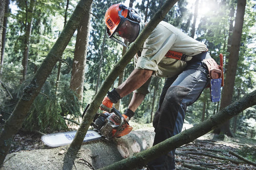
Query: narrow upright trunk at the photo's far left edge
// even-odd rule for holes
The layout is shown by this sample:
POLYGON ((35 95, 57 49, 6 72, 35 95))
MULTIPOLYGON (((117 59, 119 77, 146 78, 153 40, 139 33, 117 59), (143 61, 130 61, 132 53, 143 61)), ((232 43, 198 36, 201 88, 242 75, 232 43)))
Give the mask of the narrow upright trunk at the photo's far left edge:
POLYGON ((5 38, 6 38, 6 28, 7 28, 7 22, 8 22, 8 13, 9 13, 9 0, 0 0, 0 51, 1 51, 1 60, 0 60, 0 77, 2 74, 3 64, 4 64, 4 53, 5 53, 5 38), (2 2, 3 1, 3 2, 2 2), (5 5, 5 10, 3 9, 3 6, 5 5), (2 11, 3 10, 3 11, 2 11), (2 16, 2 13, 4 12, 4 16, 2 16), (3 22, 2 22, 2 17, 3 22))

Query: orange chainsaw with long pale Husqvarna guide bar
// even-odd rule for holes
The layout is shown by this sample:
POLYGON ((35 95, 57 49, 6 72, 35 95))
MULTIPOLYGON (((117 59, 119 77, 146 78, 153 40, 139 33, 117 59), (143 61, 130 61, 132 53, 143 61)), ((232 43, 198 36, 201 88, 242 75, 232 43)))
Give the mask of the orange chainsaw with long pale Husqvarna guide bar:
MULTIPOLYGON (((86 113, 88 107, 89 105, 84 110, 82 117, 86 113)), ((93 126, 94 129, 87 131, 83 142, 98 140, 101 138, 108 140, 115 137, 119 138, 129 134, 133 129, 115 108, 112 108, 109 112, 97 113, 91 126, 93 126)), ((42 135, 41 140, 49 147, 60 147, 62 145, 70 144, 75 138, 75 135, 76 131, 58 132, 42 135)))

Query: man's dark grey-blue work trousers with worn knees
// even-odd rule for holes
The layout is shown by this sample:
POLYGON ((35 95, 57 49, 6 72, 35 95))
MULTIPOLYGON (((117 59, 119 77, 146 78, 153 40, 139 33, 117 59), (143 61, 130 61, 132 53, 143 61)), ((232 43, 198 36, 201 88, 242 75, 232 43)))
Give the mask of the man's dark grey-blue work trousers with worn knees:
MULTIPOLYGON (((153 145, 181 132, 186 108, 199 98, 208 84, 207 75, 207 67, 197 61, 189 63, 181 74, 167 78, 153 120, 156 133, 153 145)), ((175 169, 175 150, 147 165, 150 170, 175 169)))

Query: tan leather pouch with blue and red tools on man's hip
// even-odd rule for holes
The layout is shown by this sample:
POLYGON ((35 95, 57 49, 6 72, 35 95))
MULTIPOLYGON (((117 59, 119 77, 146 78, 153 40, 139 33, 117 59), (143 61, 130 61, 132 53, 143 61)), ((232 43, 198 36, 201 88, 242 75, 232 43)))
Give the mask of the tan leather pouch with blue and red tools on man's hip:
POLYGON ((208 87, 210 87, 211 102, 219 102, 221 100, 221 87, 224 85, 222 54, 220 54, 220 59, 220 65, 212 58, 203 60, 209 70, 210 84, 208 87))

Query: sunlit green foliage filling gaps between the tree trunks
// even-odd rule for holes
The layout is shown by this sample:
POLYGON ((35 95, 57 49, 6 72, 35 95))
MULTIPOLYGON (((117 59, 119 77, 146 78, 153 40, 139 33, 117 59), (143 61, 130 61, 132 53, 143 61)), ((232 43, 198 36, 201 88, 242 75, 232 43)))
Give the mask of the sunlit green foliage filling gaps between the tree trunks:
MULTIPOLYGON (((121 58, 122 46, 116 42, 106 38, 103 44, 103 37, 105 34, 104 14, 105 11, 113 4, 123 3, 121 0, 100 0, 93 2, 92 19, 91 19, 91 32, 89 38, 89 46, 87 52, 87 65, 84 80, 84 99, 79 103, 75 98, 75 94, 69 90, 71 79, 71 67, 73 63, 73 53, 75 47, 75 37, 68 44, 62 59, 61 75, 58 90, 55 89, 57 66, 54 67, 51 76, 48 78, 47 83, 41 89, 44 94, 39 94, 31 107, 30 113, 24 123, 23 127, 28 130, 39 130, 43 132, 56 131, 66 128, 64 120, 60 117, 69 116, 70 118, 78 118, 80 116, 79 108, 85 108, 88 103, 93 99, 96 89, 96 83, 99 75, 99 86, 108 76, 110 70, 121 58), (100 58, 102 56, 102 65, 99 68, 100 58)), ((181 29, 183 32, 189 34, 194 19, 194 3, 195 1, 179 1, 172 10, 166 15, 165 21, 172 23, 174 26, 181 29)), ((205 2, 199 1, 202 5, 205 2)), ((227 40, 229 33, 230 19, 229 12, 231 7, 236 8, 237 4, 234 1, 208 1, 210 10, 208 13, 198 15, 196 35, 197 40, 205 43, 210 51, 212 57, 219 62, 219 54, 224 54, 224 64, 227 64, 228 52, 227 40)), ((30 78, 34 75, 35 71, 49 53, 56 38, 63 29, 65 8, 67 1, 36 1, 36 6, 33 15, 32 33, 29 51, 29 64, 28 76, 25 82, 22 80, 22 58, 23 58, 23 42, 25 34, 25 17, 26 17, 26 4, 25 1, 16 1, 17 11, 12 10, 9 15, 9 22, 7 28, 5 59, 3 66, 3 73, 1 81, 7 87, 12 95, 12 99, 8 91, 0 86, 0 107, 3 119, 7 119, 15 107, 23 88, 29 83, 30 78)), ((28 1, 29 3, 29 1, 28 1)), ((68 18, 76 6, 77 1, 70 2, 68 10, 68 18)), ((161 1, 135 1, 134 8, 142 16, 144 21, 149 21, 156 11, 161 7, 161 1), (148 4, 147 14, 146 8, 148 4)), ((200 12, 206 11, 204 8, 199 9, 200 12)), ((242 34, 242 43, 240 47, 240 58, 238 63, 236 83, 234 87, 233 100, 241 98, 247 92, 255 89, 255 1, 247 1, 245 12, 245 22, 242 34)), ((125 67, 124 80, 130 75, 134 69, 133 62, 125 67)), ((118 80, 115 81, 113 87, 117 87, 118 80)), ((151 92, 146 95, 145 100, 136 111, 135 122, 150 123, 151 114, 155 113, 158 107, 158 100, 161 94, 161 89, 164 84, 164 79, 153 79, 150 90, 151 92), (156 93, 154 95, 154 91, 156 93), (155 104, 152 107, 153 98, 155 104), (152 110, 153 109, 153 110, 152 110)), ((120 110, 123 112, 131 100, 131 94, 125 96, 121 100, 120 110)), ((218 111, 218 104, 211 103, 209 100, 209 90, 203 91, 199 100, 187 108, 186 120, 189 123, 197 124, 201 122, 203 102, 206 102, 205 118, 218 111)), ((254 109, 254 107, 253 107, 254 109)), ((255 119, 254 110, 246 110, 238 117, 238 133, 248 133, 249 124, 245 122, 250 118, 255 119)), ((233 121, 233 120, 232 120, 233 121)), ((231 122, 232 123, 232 122, 231 122)))

